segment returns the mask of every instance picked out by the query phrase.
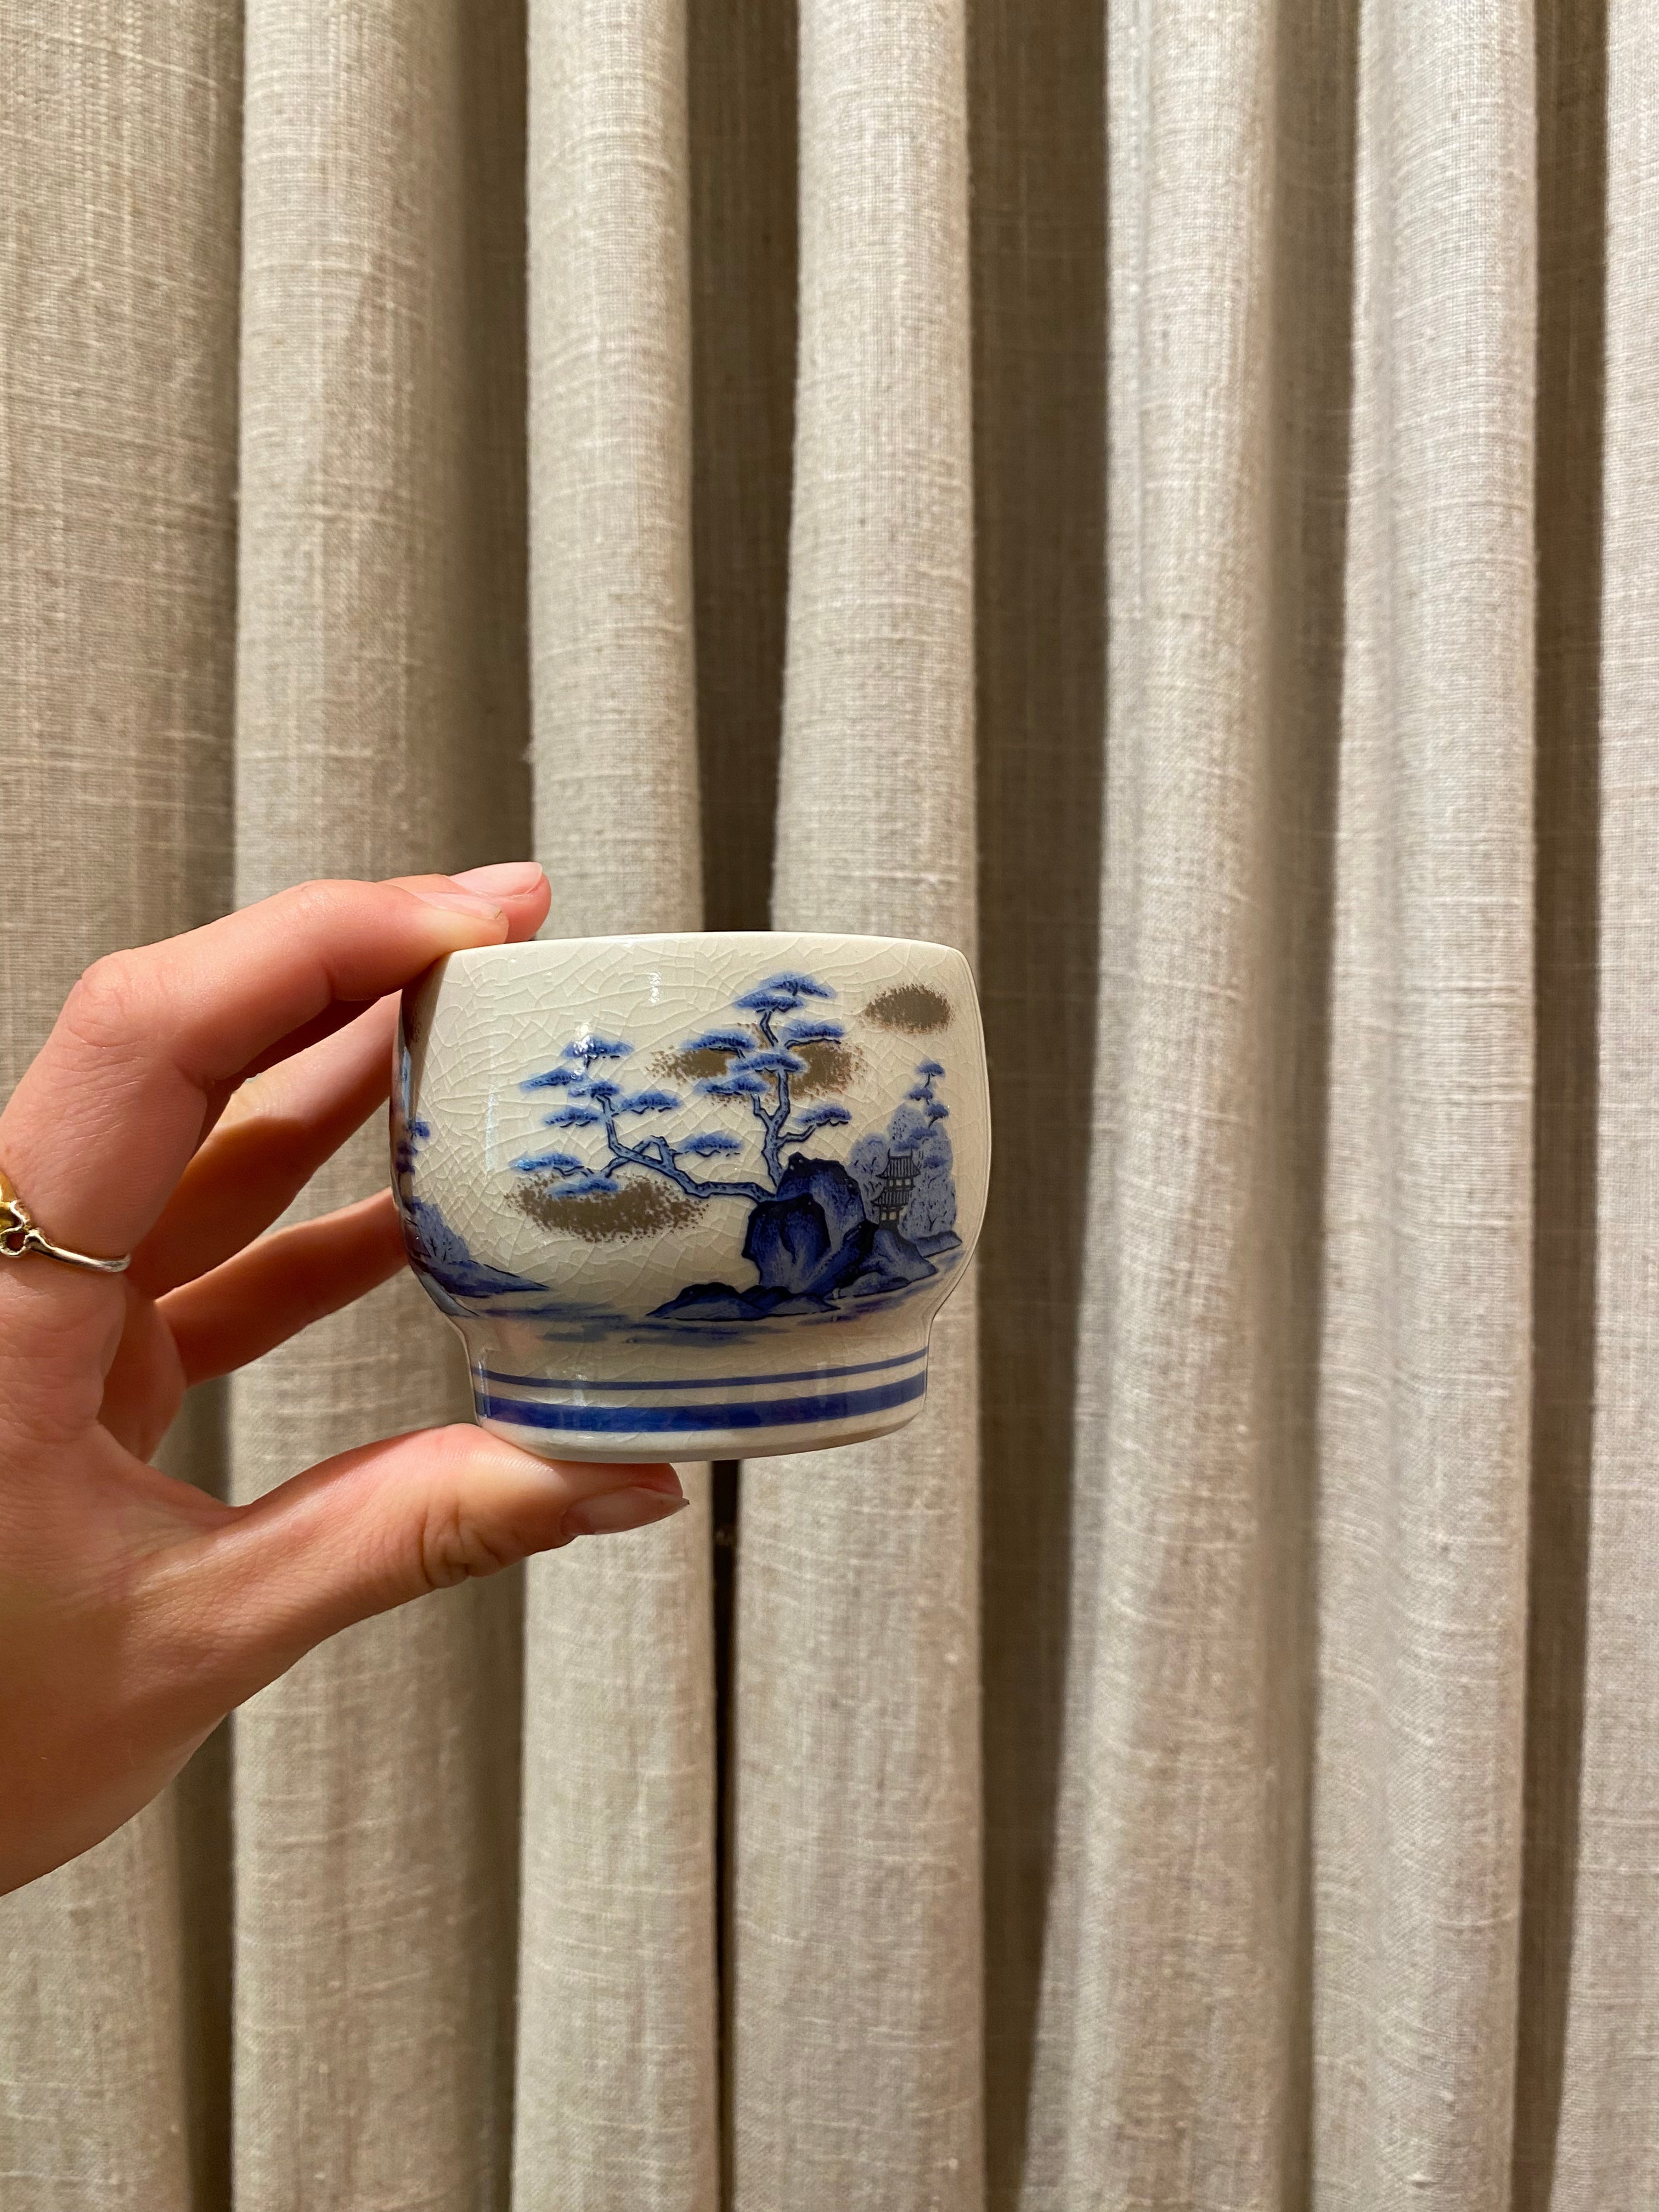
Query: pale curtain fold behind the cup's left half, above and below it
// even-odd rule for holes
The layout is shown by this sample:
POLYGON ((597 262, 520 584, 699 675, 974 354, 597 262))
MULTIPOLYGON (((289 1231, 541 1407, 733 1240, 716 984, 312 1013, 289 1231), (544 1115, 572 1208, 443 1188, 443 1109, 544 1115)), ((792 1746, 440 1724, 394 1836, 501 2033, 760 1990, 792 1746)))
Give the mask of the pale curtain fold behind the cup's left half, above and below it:
MULTIPOLYGON (((697 929, 679 7, 531 15, 531 653, 544 936, 697 929)), ((708 1482, 533 1559, 513 2203, 719 2203, 708 1482)))

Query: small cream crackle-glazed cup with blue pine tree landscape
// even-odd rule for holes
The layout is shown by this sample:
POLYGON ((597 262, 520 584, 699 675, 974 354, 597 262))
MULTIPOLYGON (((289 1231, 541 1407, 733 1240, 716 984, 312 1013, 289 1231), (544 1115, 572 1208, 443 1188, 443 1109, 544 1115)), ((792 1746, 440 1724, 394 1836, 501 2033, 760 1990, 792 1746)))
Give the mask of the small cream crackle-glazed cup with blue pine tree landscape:
POLYGON ((911 1420, 989 1155, 947 945, 500 945, 403 1000, 409 1261, 467 1340, 478 1420, 544 1458, 754 1458, 911 1420))

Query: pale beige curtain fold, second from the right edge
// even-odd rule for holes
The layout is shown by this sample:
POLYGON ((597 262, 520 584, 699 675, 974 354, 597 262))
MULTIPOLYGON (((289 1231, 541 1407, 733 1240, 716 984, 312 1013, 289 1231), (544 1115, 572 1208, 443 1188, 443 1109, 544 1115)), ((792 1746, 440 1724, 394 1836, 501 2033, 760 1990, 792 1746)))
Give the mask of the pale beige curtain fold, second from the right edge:
POLYGON ((1314 2172, 1502 2203, 1533 1338, 1533 40, 1363 20, 1321 1347, 1314 2172), (1467 86, 1453 117, 1436 88, 1467 86), (1409 148, 1409 157, 1407 157, 1409 148), (1413 588, 1413 577, 1433 588, 1413 588))

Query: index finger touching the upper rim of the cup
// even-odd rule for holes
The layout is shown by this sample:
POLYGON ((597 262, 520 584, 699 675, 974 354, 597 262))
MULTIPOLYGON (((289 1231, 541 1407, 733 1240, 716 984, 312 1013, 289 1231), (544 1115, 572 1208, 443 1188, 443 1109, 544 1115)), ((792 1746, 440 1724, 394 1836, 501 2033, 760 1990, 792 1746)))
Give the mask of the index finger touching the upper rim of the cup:
MULTIPOLYGON (((330 1009, 403 989, 442 953, 526 938, 538 867, 303 883, 159 945, 111 953, 71 991, 0 1113, 0 1164, 55 1243, 131 1252, 226 1088, 330 1009)), ((44 1263, 42 1263, 44 1265, 44 1263)), ((66 1272, 66 1270, 64 1270, 66 1272)))

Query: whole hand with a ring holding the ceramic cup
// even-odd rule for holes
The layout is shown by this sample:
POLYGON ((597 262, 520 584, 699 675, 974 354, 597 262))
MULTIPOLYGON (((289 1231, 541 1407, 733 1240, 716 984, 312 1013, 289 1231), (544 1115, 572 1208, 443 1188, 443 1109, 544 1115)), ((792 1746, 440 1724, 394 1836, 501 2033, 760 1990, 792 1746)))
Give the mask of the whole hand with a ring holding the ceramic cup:
POLYGON ((248 1506, 148 1464, 186 1385, 398 1270, 389 1190, 261 1230, 385 1102, 398 989, 529 938, 546 905, 531 865, 307 883, 113 953, 0 1113, 42 1232, 133 1254, 0 1261, 0 1891, 108 1836, 336 1628, 684 1504, 672 1467, 473 1427, 363 1444, 248 1506))

